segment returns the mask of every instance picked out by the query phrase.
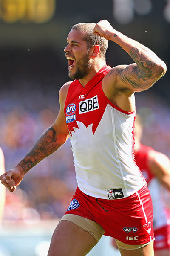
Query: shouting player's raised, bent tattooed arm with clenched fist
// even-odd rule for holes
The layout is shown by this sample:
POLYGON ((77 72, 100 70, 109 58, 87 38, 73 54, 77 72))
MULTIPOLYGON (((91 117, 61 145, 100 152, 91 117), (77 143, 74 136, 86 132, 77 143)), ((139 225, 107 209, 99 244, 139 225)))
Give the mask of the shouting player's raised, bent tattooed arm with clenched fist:
POLYGON ((153 51, 116 31, 107 20, 96 24, 94 34, 119 44, 135 61, 130 65, 113 67, 108 79, 115 87, 139 92, 151 87, 166 73, 166 64, 153 51))

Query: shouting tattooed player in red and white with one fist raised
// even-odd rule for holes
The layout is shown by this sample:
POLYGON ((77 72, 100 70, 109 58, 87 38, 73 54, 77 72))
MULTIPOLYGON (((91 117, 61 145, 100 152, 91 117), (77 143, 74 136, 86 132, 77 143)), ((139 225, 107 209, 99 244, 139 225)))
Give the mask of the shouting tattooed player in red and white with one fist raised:
POLYGON ((57 119, 0 177, 2 184, 13 192, 29 169, 70 137, 78 188, 54 230, 48 256, 84 256, 103 234, 116 239, 122 256, 153 256, 150 192, 133 159, 134 93, 160 79, 166 64, 107 20, 74 25, 64 50, 75 80, 60 89, 57 119), (107 66, 108 40, 134 63, 107 66))

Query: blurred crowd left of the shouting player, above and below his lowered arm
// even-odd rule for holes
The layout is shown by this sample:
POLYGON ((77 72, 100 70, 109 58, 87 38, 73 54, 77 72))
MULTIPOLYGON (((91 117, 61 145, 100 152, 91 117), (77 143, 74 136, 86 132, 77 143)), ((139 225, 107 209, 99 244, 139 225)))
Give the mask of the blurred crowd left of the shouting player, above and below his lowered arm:
MULTIPOLYGON (((3 94, 0 99, 0 145, 6 170, 13 168, 54 122, 58 92, 3 94)), ((4 219, 34 221, 61 218, 77 187, 69 141, 31 169, 14 193, 7 191, 4 219)))

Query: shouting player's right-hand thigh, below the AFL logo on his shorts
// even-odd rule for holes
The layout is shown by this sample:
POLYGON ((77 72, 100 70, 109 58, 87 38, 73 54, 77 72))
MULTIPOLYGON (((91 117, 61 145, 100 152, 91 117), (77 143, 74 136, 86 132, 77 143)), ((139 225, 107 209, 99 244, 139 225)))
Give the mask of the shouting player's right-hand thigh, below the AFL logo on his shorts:
POLYGON ((146 246, 136 250, 125 250, 119 248, 121 256, 154 256, 153 241, 146 246))

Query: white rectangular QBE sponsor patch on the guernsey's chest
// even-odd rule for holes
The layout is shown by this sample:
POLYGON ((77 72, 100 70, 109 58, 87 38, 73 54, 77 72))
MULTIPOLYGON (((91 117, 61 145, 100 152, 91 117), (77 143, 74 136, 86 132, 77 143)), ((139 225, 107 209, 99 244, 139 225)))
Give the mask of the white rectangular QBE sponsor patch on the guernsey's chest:
POLYGON ((79 114, 84 114, 99 108, 97 95, 79 103, 79 114))

